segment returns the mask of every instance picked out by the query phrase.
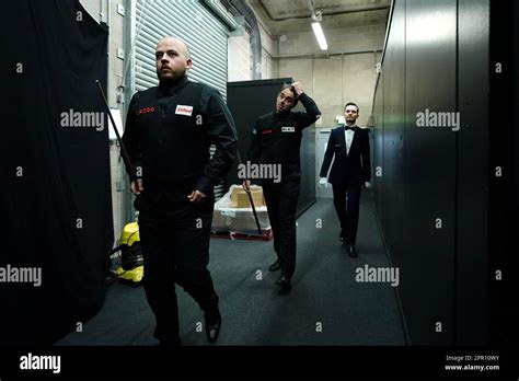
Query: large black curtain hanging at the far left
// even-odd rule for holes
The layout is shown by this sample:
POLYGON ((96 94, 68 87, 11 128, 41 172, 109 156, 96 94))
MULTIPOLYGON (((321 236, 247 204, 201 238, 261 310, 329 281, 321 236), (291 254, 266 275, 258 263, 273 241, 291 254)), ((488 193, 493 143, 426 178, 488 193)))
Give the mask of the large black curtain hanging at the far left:
POLYGON ((107 37, 77 0, 16 0, 1 13, 0 346, 44 346, 103 304, 113 244, 107 37), (70 118, 72 116, 72 118, 70 118))

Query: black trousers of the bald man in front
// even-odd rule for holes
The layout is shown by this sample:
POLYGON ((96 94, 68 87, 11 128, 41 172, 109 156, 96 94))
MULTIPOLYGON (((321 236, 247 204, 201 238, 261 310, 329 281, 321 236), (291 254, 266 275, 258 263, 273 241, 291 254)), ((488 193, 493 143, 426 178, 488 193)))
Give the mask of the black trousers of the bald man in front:
POLYGON ((178 339, 175 284, 184 288, 201 310, 218 303, 209 264, 214 200, 175 208, 140 211, 139 234, 145 258, 145 291, 157 320, 154 337, 178 339))

